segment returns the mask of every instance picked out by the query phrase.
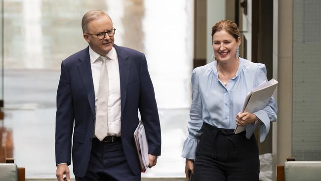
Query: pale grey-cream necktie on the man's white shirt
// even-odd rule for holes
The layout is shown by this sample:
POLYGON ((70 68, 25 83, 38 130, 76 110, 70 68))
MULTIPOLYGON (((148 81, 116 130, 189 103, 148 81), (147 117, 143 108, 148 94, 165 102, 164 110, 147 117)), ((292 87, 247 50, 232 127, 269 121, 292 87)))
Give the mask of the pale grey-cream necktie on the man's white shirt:
POLYGON ((98 99, 96 109, 95 136, 101 141, 108 134, 108 70, 107 57, 100 56, 102 65, 100 68, 100 79, 98 88, 98 99))

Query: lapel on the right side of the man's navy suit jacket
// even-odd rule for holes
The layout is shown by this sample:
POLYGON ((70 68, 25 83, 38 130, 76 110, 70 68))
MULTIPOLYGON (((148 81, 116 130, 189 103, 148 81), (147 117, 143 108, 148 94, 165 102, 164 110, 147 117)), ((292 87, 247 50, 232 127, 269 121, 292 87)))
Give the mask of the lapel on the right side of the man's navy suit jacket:
POLYGON ((121 113, 123 112, 125 101, 126 101, 126 90, 128 85, 128 77, 130 72, 130 61, 128 60, 128 54, 119 46, 114 45, 119 63, 120 72, 120 102, 121 102, 121 113))

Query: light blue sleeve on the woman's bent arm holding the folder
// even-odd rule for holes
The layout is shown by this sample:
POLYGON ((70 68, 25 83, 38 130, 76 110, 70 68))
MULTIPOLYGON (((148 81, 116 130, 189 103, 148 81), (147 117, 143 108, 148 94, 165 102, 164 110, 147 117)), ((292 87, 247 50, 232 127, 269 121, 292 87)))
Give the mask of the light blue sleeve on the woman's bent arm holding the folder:
MULTIPOLYGON (((255 87, 267 81, 266 67, 264 64, 257 64, 257 73, 255 79, 255 87)), ((275 99, 271 97, 267 106, 253 113, 260 121, 257 124, 249 124, 246 126, 246 137, 250 138, 255 131, 255 128, 257 126, 260 126, 260 142, 263 142, 265 137, 269 133, 271 122, 277 121, 277 111, 277 103, 275 99)))

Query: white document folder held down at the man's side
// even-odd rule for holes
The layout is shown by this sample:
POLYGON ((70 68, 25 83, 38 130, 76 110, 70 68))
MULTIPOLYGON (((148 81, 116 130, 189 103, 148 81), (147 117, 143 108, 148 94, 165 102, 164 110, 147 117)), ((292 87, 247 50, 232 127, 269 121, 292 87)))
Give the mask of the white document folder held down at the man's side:
POLYGON ((134 132, 134 140, 142 172, 145 172, 149 165, 148 142, 143 121, 140 120, 134 132))

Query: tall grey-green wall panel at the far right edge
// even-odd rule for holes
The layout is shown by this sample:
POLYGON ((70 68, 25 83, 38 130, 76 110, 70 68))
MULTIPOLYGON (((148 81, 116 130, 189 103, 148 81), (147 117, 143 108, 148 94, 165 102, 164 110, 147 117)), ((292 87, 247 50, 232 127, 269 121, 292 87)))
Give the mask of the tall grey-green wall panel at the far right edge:
POLYGON ((321 160, 321 1, 293 1, 292 155, 321 160))

